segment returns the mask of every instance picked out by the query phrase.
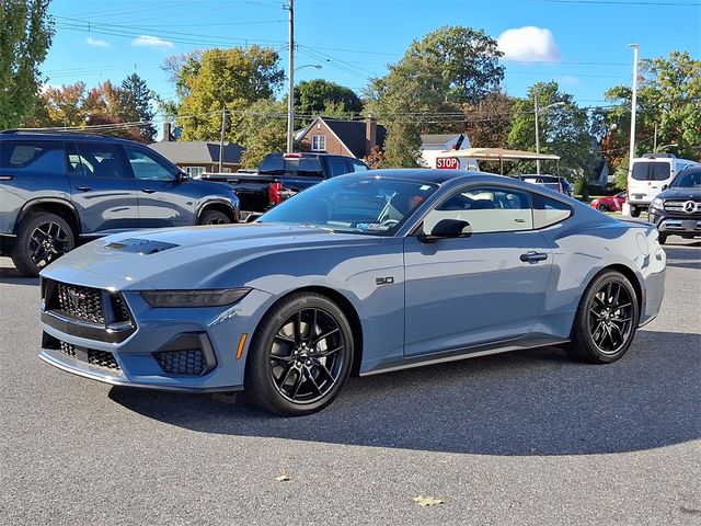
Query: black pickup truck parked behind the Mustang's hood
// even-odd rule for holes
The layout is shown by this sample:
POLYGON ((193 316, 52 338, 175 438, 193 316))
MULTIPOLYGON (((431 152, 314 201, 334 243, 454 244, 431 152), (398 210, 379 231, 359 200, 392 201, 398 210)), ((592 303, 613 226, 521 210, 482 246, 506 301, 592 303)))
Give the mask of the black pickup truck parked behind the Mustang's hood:
POLYGON ((321 181, 369 170, 354 158, 332 153, 268 153, 257 173, 205 173, 205 181, 229 183, 241 206, 241 218, 252 220, 268 208, 321 181))

